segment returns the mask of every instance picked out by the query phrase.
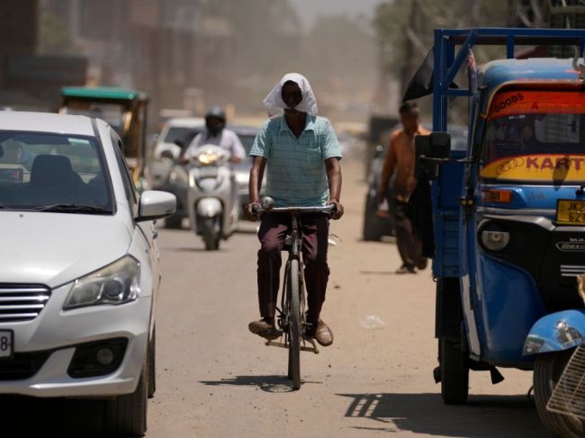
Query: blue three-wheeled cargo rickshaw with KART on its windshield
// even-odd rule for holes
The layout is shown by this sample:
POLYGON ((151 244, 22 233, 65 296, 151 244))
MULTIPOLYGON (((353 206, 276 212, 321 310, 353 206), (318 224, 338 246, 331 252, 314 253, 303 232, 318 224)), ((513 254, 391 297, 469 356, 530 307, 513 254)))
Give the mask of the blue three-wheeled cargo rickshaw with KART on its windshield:
POLYGON ((548 431, 585 436, 585 67, 577 57, 515 59, 515 45, 582 54, 585 31, 436 30, 433 71, 411 83, 434 94, 434 132, 416 139, 415 202, 432 209, 414 221, 434 254, 435 378, 446 404, 463 404, 470 370, 491 371, 493 383, 497 367, 534 370, 548 431), (508 58, 478 68, 477 45, 504 46, 508 58), (453 85, 458 73, 467 89, 453 85), (450 147, 455 96, 469 103, 464 151, 450 147))

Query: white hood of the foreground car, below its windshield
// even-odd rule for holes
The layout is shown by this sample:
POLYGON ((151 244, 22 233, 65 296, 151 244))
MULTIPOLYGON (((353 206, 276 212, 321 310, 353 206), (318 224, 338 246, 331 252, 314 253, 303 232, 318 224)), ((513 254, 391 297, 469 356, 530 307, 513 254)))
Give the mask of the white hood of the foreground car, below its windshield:
POLYGON ((125 255, 130 230, 116 216, 0 212, 0 283, 54 288, 125 255))

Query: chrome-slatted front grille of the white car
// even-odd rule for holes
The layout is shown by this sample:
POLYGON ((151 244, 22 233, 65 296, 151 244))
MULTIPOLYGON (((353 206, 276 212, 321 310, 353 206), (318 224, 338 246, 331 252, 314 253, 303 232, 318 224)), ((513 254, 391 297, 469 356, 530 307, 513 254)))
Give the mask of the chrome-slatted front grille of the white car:
POLYGON ((38 317, 49 297, 50 290, 45 286, 0 283, 0 324, 38 317))

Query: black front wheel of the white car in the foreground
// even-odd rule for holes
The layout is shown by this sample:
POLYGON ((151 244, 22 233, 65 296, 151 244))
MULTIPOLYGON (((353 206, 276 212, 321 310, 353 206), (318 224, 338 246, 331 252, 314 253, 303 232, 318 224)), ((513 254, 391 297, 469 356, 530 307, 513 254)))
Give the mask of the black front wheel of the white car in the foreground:
POLYGON ((104 429, 114 435, 143 436, 147 431, 148 360, 140 372, 136 390, 105 401, 104 429))

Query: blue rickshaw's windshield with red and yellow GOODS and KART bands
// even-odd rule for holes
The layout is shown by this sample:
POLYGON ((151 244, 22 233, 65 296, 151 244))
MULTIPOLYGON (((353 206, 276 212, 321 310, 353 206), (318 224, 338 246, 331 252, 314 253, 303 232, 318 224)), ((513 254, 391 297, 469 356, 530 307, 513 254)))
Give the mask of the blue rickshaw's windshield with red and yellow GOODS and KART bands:
POLYGON ((483 179, 536 183, 585 179, 585 94, 496 95, 482 141, 483 179))

